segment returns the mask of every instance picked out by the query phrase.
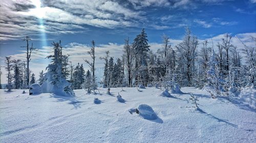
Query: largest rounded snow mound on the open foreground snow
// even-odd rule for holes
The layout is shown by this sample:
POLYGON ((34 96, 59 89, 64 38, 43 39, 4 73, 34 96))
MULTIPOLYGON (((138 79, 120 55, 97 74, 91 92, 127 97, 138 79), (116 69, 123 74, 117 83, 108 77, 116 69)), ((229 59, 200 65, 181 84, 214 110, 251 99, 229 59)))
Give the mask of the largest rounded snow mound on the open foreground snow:
POLYGON ((147 120, 156 120, 157 115, 151 106, 146 104, 140 104, 137 109, 139 110, 139 115, 147 120))

